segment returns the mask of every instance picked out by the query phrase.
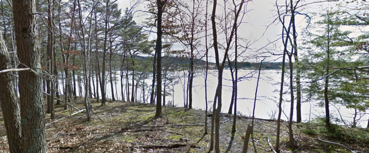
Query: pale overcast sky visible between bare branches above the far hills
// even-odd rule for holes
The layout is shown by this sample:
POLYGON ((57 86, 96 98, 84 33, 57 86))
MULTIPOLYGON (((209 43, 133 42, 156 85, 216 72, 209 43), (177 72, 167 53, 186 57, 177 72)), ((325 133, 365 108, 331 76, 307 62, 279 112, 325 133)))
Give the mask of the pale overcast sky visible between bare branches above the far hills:
MULTIPOLYGON (((136 1, 132 0, 118 0, 119 6, 124 9, 126 7, 130 8, 131 5, 133 5, 136 1)), ((301 4, 307 4, 311 3, 313 1, 305 1, 301 2, 301 4)), ((134 20, 137 23, 141 23, 146 16, 144 16, 144 13, 142 11, 145 11, 145 0, 141 0, 139 2, 138 6, 136 7, 136 13, 134 20)), ((218 0, 218 4, 223 3, 223 1, 218 0)), ((278 1, 278 3, 281 3, 279 5, 282 5, 284 1, 278 1)), ((336 2, 329 2, 329 3, 319 3, 315 5, 309 5, 309 7, 305 7, 304 9, 298 10, 300 13, 308 13, 309 15, 312 15, 311 12, 318 12, 321 10, 322 7, 328 7, 334 6, 336 2)), ((212 6, 209 5, 209 13, 211 13, 212 6)), ((221 7, 217 7, 217 15, 222 14, 221 7)), ((249 52, 246 54, 252 54, 255 52, 255 50, 258 50, 264 46, 266 46, 269 42, 276 40, 279 37, 279 34, 281 33, 281 25, 279 23, 272 24, 273 20, 275 19, 276 14, 276 7, 275 7, 275 0, 255 0, 252 2, 249 2, 247 4, 247 10, 249 11, 246 16, 243 18, 244 23, 242 23, 238 29, 238 35, 239 37, 250 39, 250 41, 254 41, 258 39, 249 49, 249 52), (267 28, 267 26, 269 27, 267 28)), ((297 23, 297 30, 298 33, 301 33, 301 29, 306 26, 306 21, 304 20, 304 16, 298 15, 296 17, 296 23, 297 23)), ((208 28, 210 29, 210 23, 208 28)), ((209 31, 211 32, 211 31, 209 31)), ((301 38, 301 37, 300 37, 301 38)), ((220 41, 218 38, 218 41, 220 41)), ((299 38, 298 38, 299 40, 299 38)), ((202 42, 204 44, 204 42, 202 42)), ((281 49, 281 42, 277 41, 275 45, 270 44, 269 48, 274 48, 274 50, 280 50, 281 49)), ((175 44, 173 46, 173 49, 179 49, 183 48, 181 44, 175 44)), ((213 50, 210 51, 210 56, 213 55, 213 50)), ((274 60, 277 59, 279 56, 272 56, 268 58, 268 60, 274 60)), ((214 62, 214 59, 211 59, 212 62, 214 62)), ((281 61, 281 60, 278 60, 281 61)))

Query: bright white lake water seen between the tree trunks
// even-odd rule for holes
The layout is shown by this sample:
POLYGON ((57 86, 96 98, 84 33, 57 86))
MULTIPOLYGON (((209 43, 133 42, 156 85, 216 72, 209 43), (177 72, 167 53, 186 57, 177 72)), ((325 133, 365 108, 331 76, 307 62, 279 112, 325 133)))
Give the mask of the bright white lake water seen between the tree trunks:
MULTIPOLYGON (((119 73, 118 73, 119 74, 119 73)), ((183 83, 187 83, 187 78, 183 78, 183 72, 177 72, 179 77, 177 79, 179 80, 178 84, 174 85, 174 105, 177 107, 183 107, 183 83), (182 84, 181 84, 182 83, 182 84)), ((193 108, 205 110, 205 88, 204 88, 204 72, 199 72, 194 78, 193 83, 193 108)), ((184 75, 184 77, 187 77, 188 75, 184 75)), ((239 113, 246 115, 246 116, 252 116, 252 108, 254 103, 254 96, 255 96, 255 89, 256 89, 256 81, 257 81, 257 71, 255 70, 239 70, 238 72, 239 78, 241 78, 241 81, 238 82, 238 98, 237 98, 237 109, 239 113)), ((259 81, 259 88, 257 91, 257 99, 256 99, 256 107, 255 107, 255 117, 256 118, 265 118, 270 119, 275 115, 275 118, 278 116, 277 112, 277 101, 279 101, 279 91, 277 91, 279 87, 279 81, 280 81, 280 73, 278 73, 278 70, 263 70, 261 72, 261 78, 259 81)), ((117 75, 117 79, 120 79, 120 76, 117 75)), ((96 80, 95 80, 96 81, 96 80)), ((289 81, 288 78, 286 78, 285 81, 289 81)), ((124 80, 124 82, 126 82, 124 80)), ((129 81, 131 82, 131 81, 129 81)), ((146 79, 145 82, 148 85, 151 85, 151 79, 146 79)), ((120 87, 120 80, 117 80, 117 92, 118 98, 121 99, 121 87, 120 87)), ((164 83, 164 81, 163 81, 164 83)), ((96 83, 95 83, 96 85, 96 83)), ((215 89, 217 85, 217 71, 216 70, 210 70, 208 74, 208 81, 207 81, 207 98, 208 98, 208 105, 209 107, 212 106, 211 101, 214 100, 215 95, 215 89)), ((168 85, 170 88, 171 85, 168 85)), ((78 90, 78 88, 77 88, 78 90)), ((285 88, 284 90, 288 90, 285 88)), ((151 91, 148 91, 146 89, 145 96, 147 99, 148 94, 150 94, 151 91)), ((78 93, 78 92, 77 92, 78 93)), ((142 96, 141 89, 137 90, 137 96, 138 99, 142 96)), ((116 95, 116 93, 115 93, 116 95)), ((101 96, 101 94, 100 94, 101 96)), ((107 82, 106 85, 106 96, 107 98, 111 98, 111 90, 110 90, 110 82, 107 82)), ((222 90, 222 112, 228 113, 228 109, 230 107, 231 103, 231 96, 232 96, 232 77, 229 70, 224 70, 223 73, 223 90, 222 90)), ((125 96, 127 97, 127 96, 125 96)), ((289 94, 283 95, 284 99, 288 99, 290 97, 289 94)), ((150 96, 149 96, 150 98, 150 96)), ((302 95, 302 101, 304 102, 304 95, 302 95)), ((172 101, 172 96, 167 96, 166 100, 172 101)), ((147 100, 146 100, 147 101, 147 100)), ((324 116, 324 109, 320 108, 317 105, 317 102, 314 103, 303 103, 302 104, 302 120, 303 121, 309 121, 317 116, 324 116)), ((282 119, 287 120, 289 116, 289 110, 290 110, 290 103, 283 103, 282 104, 283 112, 282 113, 282 119)), ((295 106, 296 108, 296 100, 295 100, 295 106)), ((345 107, 339 107, 337 106, 337 109, 333 106, 330 106, 330 112, 336 116, 339 117, 339 113, 337 109, 340 110, 340 113, 342 117, 345 120, 348 120, 349 122, 352 122, 353 118, 353 110, 347 109, 345 107)), ((296 120, 296 109, 294 110, 294 117, 293 119, 296 120)), ((359 122, 359 126, 366 126, 366 121, 369 115, 363 116, 362 121, 359 122), (365 121, 364 121, 365 120, 365 121)))

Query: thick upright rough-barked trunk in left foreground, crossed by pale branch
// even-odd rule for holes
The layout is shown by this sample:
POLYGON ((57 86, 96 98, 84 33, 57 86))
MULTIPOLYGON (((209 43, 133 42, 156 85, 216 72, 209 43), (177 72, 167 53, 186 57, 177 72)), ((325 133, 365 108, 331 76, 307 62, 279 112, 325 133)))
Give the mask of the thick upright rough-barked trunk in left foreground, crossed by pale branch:
POLYGON ((13 0, 14 27, 20 68, 19 93, 22 120, 21 152, 46 152, 45 113, 42 98, 41 52, 39 50, 34 0, 13 0))

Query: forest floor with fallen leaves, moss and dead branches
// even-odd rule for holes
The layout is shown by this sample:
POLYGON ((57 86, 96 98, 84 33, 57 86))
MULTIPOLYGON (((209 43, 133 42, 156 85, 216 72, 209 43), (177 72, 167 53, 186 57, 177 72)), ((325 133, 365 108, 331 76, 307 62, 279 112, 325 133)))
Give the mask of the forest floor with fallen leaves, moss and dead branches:
MULTIPOLYGON (((73 106, 82 110, 82 103, 83 100, 79 98, 73 106)), ((191 109, 185 112, 183 108, 167 107, 167 123, 164 108, 163 118, 154 119, 155 105, 107 101, 106 106, 101 107, 95 99, 92 105, 96 115, 93 114, 93 120, 89 122, 86 121, 84 112, 63 118, 78 112, 64 111, 63 105, 55 106, 55 120, 51 120, 50 114, 46 114, 48 152, 214 152, 209 151, 210 134, 204 134, 205 112, 202 110, 191 109)), ((8 152, 2 115, 0 113, 0 152, 8 152)), ((211 117, 208 118, 208 125, 210 122, 211 117)), ((238 116, 234 134, 231 133, 232 122, 233 117, 228 114, 220 117, 221 152, 242 152, 243 137, 251 119, 238 116)), ((248 152, 273 152, 271 145, 275 146, 276 126, 274 121, 255 120, 252 134, 254 144, 250 138, 248 152)), ((338 127, 341 133, 336 134, 344 138, 317 134, 320 129, 318 123, 293 124, 297 144, 293 152, 346 152, 343 147, 320 143, 314 138, 369 152, 367 129, 338 127), (347 131, 355 135, 348 135, 347 131)), ((208 129, 210 133, 210 127, 208 129)), ((288 148, 287 122, 281 122, 281 152, 292 152, 288 148)))

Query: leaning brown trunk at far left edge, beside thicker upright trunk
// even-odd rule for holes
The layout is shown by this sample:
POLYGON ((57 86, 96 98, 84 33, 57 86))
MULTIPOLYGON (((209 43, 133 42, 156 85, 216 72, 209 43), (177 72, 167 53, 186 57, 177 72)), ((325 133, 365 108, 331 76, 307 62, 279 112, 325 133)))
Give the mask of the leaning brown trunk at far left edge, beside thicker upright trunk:
MULTIPOLYGON (((11 68, 11 58, 0 32, 0 71, 11 68)), ((0 73, 0 105, 11 153, 21 152, 21 120, 18 97, 13 84, 14 79, 12 72, 0 73)))

